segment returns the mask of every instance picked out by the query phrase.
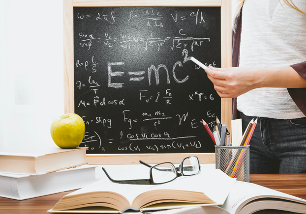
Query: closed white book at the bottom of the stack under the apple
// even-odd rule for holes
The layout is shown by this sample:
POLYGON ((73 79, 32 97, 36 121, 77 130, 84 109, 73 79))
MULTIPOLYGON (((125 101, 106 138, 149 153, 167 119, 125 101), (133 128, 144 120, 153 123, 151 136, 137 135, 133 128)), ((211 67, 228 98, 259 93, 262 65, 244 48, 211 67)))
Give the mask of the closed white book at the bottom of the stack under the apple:
POLYGON ((78 189, 94 183, 95 165, 82 165, 41 175, 0 173, 0 197, 24 200, 78 189))

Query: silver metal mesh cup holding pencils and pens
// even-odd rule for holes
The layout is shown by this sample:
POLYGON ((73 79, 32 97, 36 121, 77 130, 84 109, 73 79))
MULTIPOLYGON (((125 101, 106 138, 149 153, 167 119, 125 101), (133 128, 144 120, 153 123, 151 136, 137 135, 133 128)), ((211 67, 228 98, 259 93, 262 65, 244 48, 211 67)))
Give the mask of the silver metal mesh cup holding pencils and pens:
POLYGON ((237 181, 249 182, 249 147, 214 146, 215 168, 237 181))

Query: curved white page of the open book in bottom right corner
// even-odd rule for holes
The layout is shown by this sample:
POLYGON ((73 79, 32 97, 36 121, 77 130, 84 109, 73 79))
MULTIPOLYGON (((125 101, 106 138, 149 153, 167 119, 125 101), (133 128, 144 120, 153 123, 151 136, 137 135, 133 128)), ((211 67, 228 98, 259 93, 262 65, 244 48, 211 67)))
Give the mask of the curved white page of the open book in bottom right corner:
POLYGON ((258 198, 281 198, 306 204, 306 200, 256 184, 236 181, 222 207, 230 214, 238 214, 250 201, 258 198))

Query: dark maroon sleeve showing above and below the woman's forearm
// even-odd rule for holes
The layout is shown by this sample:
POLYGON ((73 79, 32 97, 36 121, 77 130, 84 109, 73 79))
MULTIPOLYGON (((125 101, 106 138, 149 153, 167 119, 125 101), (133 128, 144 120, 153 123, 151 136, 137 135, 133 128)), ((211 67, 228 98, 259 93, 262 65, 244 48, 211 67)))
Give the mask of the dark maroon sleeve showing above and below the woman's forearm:
MULTIPOLYGON (((290 65, 296 72, 298 72, 301 77, 306 80, 306 61, 294 65, 290 65)), ((306 88, 287 88, 288 92, 295 102, 295 104, 300 108, 300 110, 306 115, 306 88)))

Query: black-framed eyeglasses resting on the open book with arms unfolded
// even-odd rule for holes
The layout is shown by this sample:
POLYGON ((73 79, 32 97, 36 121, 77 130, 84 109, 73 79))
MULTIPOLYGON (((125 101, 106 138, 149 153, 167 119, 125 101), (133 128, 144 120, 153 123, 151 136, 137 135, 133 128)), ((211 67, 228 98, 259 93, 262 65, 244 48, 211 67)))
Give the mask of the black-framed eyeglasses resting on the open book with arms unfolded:
POLYGON ((150 179, 139 179, 139 180, 123 180, 118 181, 112 179, 106 170, 102 167, 106 176, 114 183, 118 184, 136 184, 136 185, 156 185, 165 184, 181 176, 191 176, 196 175, 201 171, 200 162, 198 157, 190 156, 184 158, 179 167, 175 167, 171 162, 159 163, 157 165, 151 166, 144 161, 139 160, 139 162, 145 166, 150 167, 150 179))

